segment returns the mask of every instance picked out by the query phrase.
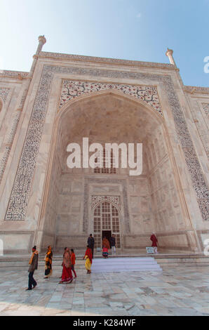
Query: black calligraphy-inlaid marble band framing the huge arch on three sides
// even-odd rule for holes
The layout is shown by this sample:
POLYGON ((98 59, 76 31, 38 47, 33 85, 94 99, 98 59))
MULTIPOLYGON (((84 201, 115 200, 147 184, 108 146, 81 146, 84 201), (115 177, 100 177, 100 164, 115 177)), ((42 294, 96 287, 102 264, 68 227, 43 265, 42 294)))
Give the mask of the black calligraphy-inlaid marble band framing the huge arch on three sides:
MULTIPOLYGON (((168 95, 170 108, 173 112, 173 118, 175 121, 175 128, 182 145, 182 149, 184 150, 184 156, 191 175, 194 190, 196 191, 197 201, 201 209, 203 220, 209 220, 207 209, 209 205, 208 188, 205 183, 201 166, 198 162, 198 157, 191 141, 187 123, 185 121, 180 102, 177 98, 177 94, 175 93, 175 88, 171 77, 139 72, 121 72, 116 70, 99 70, 81 67, 56 67, 50 65, 44 65, 43 67, 41 82, 39 85, 39 90, 36 94, 32 117, 29 122, 20 164, 16 173, 11 198, 8 203, 6 220, 25 220, 29 192, 31 190, 32 178, 34 176, 34 169, 36 166, 36 157, 39 152, 39 144, 41 141, 43 124, 47 111, 50 86, 53 81, 53 76, 56 73, 76 74, 78 76, 87 74, 88 77, 108 77, 114 79, 124 78, 136 79, 137 81, 140 79, 149 79, 150 84, 153 84, 154 81, 160 81, 163 84, 164 91, 166 91, 168 95)), ((86 189, 86 187, 84 189, 86 189)), ((85 219, 83 218, 83 220, 85 219)), ((85 227, 84 223, 83 227, 85 227)))

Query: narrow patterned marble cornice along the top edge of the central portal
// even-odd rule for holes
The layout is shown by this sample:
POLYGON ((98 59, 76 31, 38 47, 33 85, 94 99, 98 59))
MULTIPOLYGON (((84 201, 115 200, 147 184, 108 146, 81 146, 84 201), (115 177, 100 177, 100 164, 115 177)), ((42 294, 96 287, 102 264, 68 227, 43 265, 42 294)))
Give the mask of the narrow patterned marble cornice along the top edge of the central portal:
POLYGON ((142 62, 137 60, 121 60, 117 58, 97 58, 94 56, 84 56, 84 55, 73 55, 65 53, 50 53, 41 51, 39 53, 39 58, 52 58, 54 60, 70 60, 70 61, 81 61, 81 62, 95 62, 104 63, 112 65, 128 65, 132 67, 154 67, 160 69, 178 70, 173 64, 168 63, 158 63, 158 62, 142 62))

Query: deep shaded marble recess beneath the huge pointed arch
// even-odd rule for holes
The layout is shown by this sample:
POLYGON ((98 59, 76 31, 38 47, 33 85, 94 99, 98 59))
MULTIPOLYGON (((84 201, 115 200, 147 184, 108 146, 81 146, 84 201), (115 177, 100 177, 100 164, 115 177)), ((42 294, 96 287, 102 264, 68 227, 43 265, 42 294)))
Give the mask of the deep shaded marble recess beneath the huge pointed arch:
POLYGON ((60 250, 70 243, 83 249, 93 232, 91 197, 105 195, 121 199, 121 248, 149 246, 154 230, 161 235, 161 246, 171 249, 178 242, 189 250, 185 230, 190 223, 171 155, 163 117, 143 100, 100 91, 68 101, 55 119, 39 227, 42 246, 60 250), (142 143, 142 175, 131 177, 129 169, 116 174, 69 169, 67 145, 82 145, 83 137, 89 143, 142 143))

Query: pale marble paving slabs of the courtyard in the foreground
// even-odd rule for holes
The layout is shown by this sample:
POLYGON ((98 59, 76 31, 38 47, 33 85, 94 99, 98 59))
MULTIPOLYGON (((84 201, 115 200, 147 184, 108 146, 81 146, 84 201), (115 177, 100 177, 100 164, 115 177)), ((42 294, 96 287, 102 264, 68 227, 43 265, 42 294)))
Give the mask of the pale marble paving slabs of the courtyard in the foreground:
MULTIPOLYGON (((83 265, 84 268, 84 265, 83 265)), ((0 272, 0 315, 209 315, 209 267, 86 275, 58 284, 60 270, 27 289, 27 271, 0 272)))

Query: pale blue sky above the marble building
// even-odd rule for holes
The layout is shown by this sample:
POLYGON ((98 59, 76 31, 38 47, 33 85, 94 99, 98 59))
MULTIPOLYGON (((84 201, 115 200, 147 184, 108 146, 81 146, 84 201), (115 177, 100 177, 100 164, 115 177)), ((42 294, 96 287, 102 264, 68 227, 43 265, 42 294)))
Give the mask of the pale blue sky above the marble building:
POLYGON ((43 51, 169 62, 185 85, 209 86, 209 0, 0 0, 0 70, 29 71, 43 51))

